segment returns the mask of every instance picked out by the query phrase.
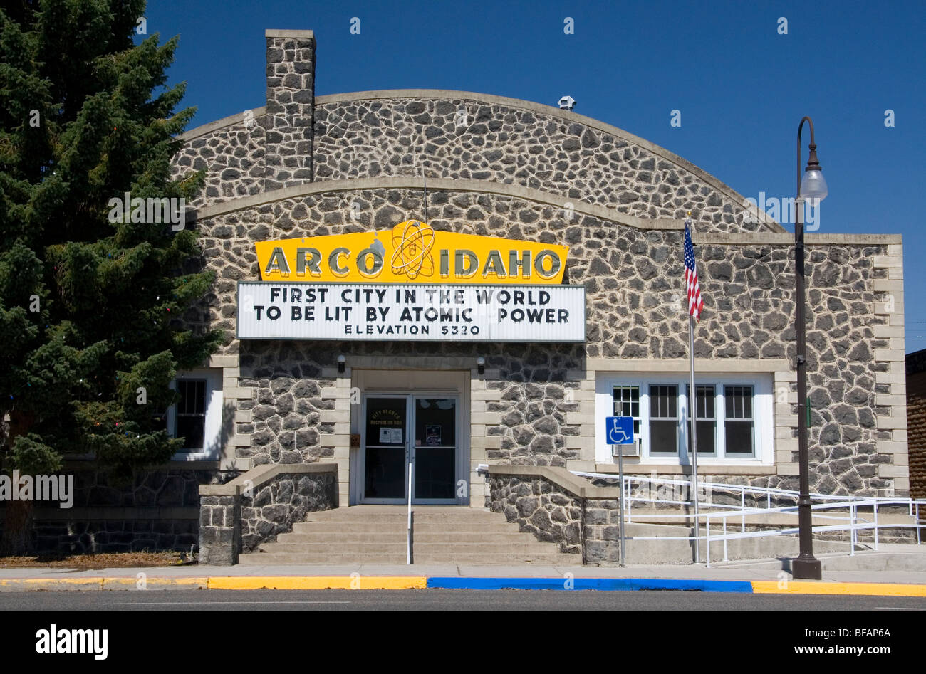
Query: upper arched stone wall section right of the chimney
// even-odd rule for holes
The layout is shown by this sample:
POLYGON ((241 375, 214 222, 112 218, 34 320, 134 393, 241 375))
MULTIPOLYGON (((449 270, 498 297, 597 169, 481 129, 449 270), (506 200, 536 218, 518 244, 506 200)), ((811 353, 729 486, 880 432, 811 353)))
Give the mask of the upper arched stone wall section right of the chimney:
POLYGON ((385 98, 316 109, 316 181, 419 176, 497 181, 640 218, 744 222, 735 202, 687 169, 578 120, 472 98, 385 98))

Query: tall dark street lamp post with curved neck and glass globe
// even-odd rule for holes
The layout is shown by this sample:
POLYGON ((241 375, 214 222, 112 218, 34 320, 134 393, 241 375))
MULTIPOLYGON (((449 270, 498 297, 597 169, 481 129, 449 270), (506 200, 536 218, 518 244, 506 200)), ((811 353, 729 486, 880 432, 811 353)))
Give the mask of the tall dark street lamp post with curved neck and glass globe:
POLYGON ((801 119, 797 127, 797 198, 795 199, 795 331, 797 333, 797 449, 800 465, 800 495, 797 499, 797 526, 800 536, 800 554, 792 560, 791 575, 795 579, 820 580, 820 560, 813 555, 813 511, 810 501, 810 459, 807 456, 807 326, 804 289, 804 222, 801 207, 804 200, 820 201, 826 197, 826 181, 817 160, 817 144, 814 143, 813 120, 801 119), (807 168, 801 178, 801 131, 804 122, 810 125, 810 156, 807 168))

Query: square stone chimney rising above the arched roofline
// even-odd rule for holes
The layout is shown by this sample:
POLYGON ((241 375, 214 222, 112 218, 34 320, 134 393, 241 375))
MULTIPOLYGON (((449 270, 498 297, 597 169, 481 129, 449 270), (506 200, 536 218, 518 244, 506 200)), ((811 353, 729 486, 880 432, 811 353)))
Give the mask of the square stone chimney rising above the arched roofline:
POLYGON ((267 114, 264 189, 312 181, 315 33, 265 31, 267 114))

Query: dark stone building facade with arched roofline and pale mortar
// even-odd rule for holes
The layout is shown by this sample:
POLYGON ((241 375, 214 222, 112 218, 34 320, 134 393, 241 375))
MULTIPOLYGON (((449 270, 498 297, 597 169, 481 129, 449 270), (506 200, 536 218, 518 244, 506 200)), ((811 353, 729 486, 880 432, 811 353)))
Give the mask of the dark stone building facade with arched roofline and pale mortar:
MULTIPOLYGON (((443 431, 454 439, 444 466, 454 489, 441 503, 491 503, 481 464, 616 472, 604 419, 623 403, 641 441, 625 469, 686 474, 690 212, 706 302, 694 343, 706 406, 698 428, 707 424, 713 443, 699 470, 796 488, 794 240, 781 225, 682 157, 604 122, 492 94, 317 96, 313 33, 267 31, 266 42, 266 105, 187 131, 175 157, 176 176, 206 173, 189 221, 216 272, 183 320, 230 335, 183 375, 206 382, 215 419, 178 465, 206 462, 212 481, 231 483, 264 465, 324 463, 336 481, 323 507, 382 502, 364 468, 370 401, 407 396, 405 435, 381 437, 403 437, 408 456, 409 436, 424 432, 414 428, 422 406, 452 401, 442 404, 456 415, 443 431), (519 341, 238 338, 240 284, 268 270, 257 243, 310 245, 408 220, 568 246, 563 284, 583 289, 584 340, 527 328, 519 341)), ((901 237, 808 234, 807 248, 811 488, 906 496, 901 237)), ((209 506, 217 531, 242 508, 219 492, 209 506)))

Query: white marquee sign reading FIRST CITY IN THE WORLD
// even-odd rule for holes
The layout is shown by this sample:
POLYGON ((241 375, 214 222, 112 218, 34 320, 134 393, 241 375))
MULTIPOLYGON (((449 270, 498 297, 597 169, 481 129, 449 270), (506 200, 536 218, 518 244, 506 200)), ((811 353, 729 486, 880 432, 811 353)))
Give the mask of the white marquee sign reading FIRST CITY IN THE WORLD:
POLYGON ((238 339, 584 342, 575 285, 238 283, 238 339))

